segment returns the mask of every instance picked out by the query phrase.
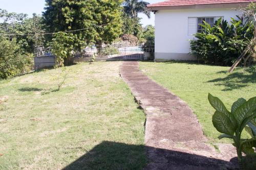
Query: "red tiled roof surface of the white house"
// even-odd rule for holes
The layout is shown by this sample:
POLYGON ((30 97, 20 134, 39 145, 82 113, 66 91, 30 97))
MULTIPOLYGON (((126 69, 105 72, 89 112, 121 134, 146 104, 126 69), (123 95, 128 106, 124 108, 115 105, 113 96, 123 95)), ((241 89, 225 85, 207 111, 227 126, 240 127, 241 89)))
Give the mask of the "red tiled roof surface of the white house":
POLYGON ((169 0, 161 3, 150 4, 147 7, 233 4, 233 3, 250 3, 250 2, 256 2, 256 0, 169 0))

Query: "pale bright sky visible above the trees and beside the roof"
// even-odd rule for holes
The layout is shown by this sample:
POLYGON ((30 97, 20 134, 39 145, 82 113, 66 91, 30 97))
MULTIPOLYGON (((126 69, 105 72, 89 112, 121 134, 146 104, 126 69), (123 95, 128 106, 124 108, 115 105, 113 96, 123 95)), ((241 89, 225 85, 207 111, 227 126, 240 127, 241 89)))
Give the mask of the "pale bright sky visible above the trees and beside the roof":
MULTIPOLYGON (((148 3, 158 3, 165 0, 145 0, 148 3)), ((44 11, 45 0, 0 0, 0 8, 8 12, 26 13, 32 16, 33 13, 41 14, 44 11)), ((148 19, 144 14, 139 14, 143 26, 155 25, 155 16, 151 13, 151 18, 148 19)))

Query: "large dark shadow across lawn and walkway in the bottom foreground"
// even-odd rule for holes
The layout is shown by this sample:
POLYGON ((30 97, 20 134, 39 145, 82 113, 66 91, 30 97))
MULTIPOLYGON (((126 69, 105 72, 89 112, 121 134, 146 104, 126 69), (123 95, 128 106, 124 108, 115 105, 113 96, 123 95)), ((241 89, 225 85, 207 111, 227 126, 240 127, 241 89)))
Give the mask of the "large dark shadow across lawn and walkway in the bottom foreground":
MULTIPOLYGON (((62 170, 79 169, 220 169, 230 162, 183 152, 103 141, 62 170), (148 161, 146 153, 151 153, 148 161), (148 164, 147 164, 148 163, 148 164)), ((223 168, 225 169, 225 168, 223 168)))

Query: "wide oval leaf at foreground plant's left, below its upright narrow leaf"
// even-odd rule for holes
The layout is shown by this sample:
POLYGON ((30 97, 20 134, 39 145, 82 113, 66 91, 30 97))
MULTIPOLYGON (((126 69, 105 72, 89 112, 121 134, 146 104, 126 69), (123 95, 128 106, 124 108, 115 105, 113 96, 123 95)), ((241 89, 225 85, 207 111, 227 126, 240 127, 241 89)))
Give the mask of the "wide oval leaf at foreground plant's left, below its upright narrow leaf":
POLYGON ((233 126, 230 119, 219 111, 216 111, 212 116, 214 127, 221 133, 233 136, 236 127, 233 126))

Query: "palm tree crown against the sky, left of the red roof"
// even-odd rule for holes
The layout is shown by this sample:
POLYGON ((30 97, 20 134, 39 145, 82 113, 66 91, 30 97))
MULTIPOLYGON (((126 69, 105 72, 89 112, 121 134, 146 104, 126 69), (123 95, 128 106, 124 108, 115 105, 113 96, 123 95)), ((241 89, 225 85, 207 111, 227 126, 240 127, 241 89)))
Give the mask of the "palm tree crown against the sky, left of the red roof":
POLYGON ((143 0, 125 0, 123 3, 123 10, 129 16, 138 17, 138 13, 145 14, 150 18, 150 11, 147 11, 146 6, 150 4, 143 0))

